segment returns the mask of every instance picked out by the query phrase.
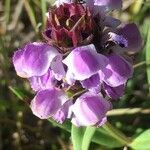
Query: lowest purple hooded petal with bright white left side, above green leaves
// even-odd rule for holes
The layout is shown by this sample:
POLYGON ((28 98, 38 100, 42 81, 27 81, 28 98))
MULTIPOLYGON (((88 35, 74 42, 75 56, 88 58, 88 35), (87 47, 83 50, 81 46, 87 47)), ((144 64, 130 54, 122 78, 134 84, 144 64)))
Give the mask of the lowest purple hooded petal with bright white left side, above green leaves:
POLYGON ((76 126, 92 126, 106 117, 111 104, 97 94, 85 93, 80 96, 74 105, 72 111, 74 117, 72 123, 76 126))

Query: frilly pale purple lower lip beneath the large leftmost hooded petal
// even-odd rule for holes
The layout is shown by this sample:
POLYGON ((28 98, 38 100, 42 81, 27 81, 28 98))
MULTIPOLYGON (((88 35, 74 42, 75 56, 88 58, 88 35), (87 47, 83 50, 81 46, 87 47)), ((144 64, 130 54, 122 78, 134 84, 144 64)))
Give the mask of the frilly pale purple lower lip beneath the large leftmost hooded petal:
POLYGON ((34 91, 40 91, 40 90, 52 88, 57 83, 53 71, 50 69, 43 76, 34 76, 29 78, 29 81, 34 91))

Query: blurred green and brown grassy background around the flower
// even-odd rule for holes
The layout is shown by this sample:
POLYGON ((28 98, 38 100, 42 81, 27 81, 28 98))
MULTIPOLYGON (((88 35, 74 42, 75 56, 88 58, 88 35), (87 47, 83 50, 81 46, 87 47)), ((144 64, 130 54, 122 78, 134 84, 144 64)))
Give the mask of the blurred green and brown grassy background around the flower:
MULTIPOLYGON (((12 65, 17 48, 42 40, 50 0, 0 1, 0 150, 72 150, 70 133, 35 117, 28 100, 34 96, 27 80, 12 65), (22 99, 23 97, 23 99, 22 99)), ((125 95, 114 102, 108 120, 128 137, 150 128, 150 1, 123 0, 123 9, 112 12, 123 22, 135 22, 143 47, 134 60, 135 72, 125 95), (149 36, 148 36, 149 33, 149 36)), ((92 150, 119 150, 92 143, 92 150)), ((142 150, 142 149, 141 149, 142 150)))

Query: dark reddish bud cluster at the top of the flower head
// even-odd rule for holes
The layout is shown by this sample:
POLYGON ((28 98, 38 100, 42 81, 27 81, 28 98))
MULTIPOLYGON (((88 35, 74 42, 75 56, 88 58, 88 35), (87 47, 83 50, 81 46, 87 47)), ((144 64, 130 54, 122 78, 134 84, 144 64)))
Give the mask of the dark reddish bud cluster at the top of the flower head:
POLYGON ((43 36, 64 53, 72 47, 91 43, 95 29, 98 29, 95 18, 87 6, 64 4, 49 11, 43 36))

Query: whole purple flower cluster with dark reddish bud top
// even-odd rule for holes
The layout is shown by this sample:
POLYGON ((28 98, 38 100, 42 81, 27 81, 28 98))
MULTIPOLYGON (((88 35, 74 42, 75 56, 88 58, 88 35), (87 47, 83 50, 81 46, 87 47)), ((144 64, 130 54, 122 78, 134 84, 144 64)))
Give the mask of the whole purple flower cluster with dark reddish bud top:
POLYGON ((41 119, 66 118, 76 126, 101 126, 123 95, 133 68, 127 52, 137 52, 141 36, 134 23, 121 24, 109 12, 121 0, 57 0, 47 13, 45 42, 14 53, 17 75, 36 96, 30 107, 41 119))

